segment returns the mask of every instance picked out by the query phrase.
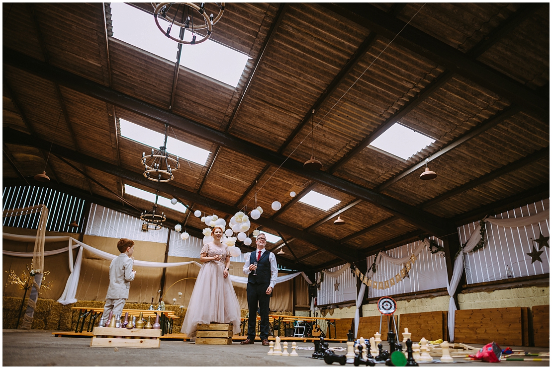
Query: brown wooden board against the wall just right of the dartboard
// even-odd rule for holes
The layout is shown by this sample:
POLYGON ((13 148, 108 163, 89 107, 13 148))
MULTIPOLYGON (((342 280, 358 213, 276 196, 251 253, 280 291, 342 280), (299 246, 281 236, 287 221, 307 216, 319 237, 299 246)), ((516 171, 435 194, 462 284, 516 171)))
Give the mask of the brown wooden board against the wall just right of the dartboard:
POLYGON ((412 333, 412 341, 426 338, 430 341, 447 340, 447 312, 432 311, 426 313, 410 313, 400 315, 399 340, 402 341, 402 332, 408 328, 412 333))

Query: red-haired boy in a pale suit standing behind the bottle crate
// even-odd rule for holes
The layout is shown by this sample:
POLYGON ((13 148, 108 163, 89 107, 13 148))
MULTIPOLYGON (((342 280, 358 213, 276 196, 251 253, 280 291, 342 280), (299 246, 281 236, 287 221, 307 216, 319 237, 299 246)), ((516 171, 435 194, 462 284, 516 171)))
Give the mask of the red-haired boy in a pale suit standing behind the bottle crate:
POLYGON ((109 317, 110 311, 113 311, 113 315, 123 313, 126 299, 129 298, 130 281, 134 281, 136 275, 136 271, 132 270, 134 241, 121 238, 117 248, 121 254, 109 265, 109 288, 105 296, 104 319, 109 317))

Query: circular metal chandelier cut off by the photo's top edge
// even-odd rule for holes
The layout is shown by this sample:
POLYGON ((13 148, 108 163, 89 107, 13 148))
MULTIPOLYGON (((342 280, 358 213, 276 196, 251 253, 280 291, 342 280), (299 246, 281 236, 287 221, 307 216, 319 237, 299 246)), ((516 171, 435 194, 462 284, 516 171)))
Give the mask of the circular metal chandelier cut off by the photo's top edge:
POLYGON ((169 39, 179 42, 180 44, 186 44, 186 45, 200 44, 201 42, 204 42, 207 39, 209 39, 209 37, 211 36, 211 33, 213 32, 213 25, 216 24, 216 22, 219 22, 219 19, 222 17, 222 13, 224 13, 224 3, 215 3, 216 6, 219 7, 219 14, 217 14, 216 17, 214 17, 213 13, 211 13, 209 17, 207 16, 207 12, 205 11, 205 8, 204 8, 205 3, 200 3, 199 6, 194 3, 159 3, 159 4, 152 3, 152 4, 153 4, 153 7, 155 7, 155 10, 153 10, 153 19, 155 19, 155 24, 157 25, 157 28, 159 28, 159 30, 169 39), (171 9, 171 7, 175 4, 178 4, 178 7, 176 9, 176 13, 174 14, 174 19, 173 19, 169 17, 167 13, 169 9, 171 9), (184 18, 185 7, 188 7, 188 14, 192 14, 191 20, 190 20, 190 17, 188 16, 187 19, 183 21, 183 23, 176 21, 176 16, 178 15, 178 10, 181 5, 184 5, 182 10, 183 12, 182 18, 184 18), (192 11, 190 12, 190 10, 192 11), (201 18, 203 18, 203 22, 198 22, 198 24, 194 23, 193 10, 196 10, 201 15, 201 18), (158 17, 161 17, 170 23, 167 30, 164 30, 161 27, 161 24, 159 24, 158 17), (184 41, 171 36, 171 28, 173 24, 176 24, 177 26, 184 29, 192 30, 192 41, 184 41), (195 32, 198 30, 206 30, 206 35, 199 40, 197 40, 197 37, 195 35, 195 32))

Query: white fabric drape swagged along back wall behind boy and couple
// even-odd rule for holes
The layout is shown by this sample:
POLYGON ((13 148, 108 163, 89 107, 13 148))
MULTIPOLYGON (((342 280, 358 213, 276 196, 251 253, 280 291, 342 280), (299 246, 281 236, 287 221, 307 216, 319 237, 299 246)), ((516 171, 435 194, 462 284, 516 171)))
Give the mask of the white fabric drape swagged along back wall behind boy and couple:
MULTIPOLYGON (((33 236, 24 236, 24 238, 20 238, 18 236, 19 235, 17 235, 17 234, 9 234, 9 233, 3 233, 2 234, 2 238, 5 238, 5 239, 22 240, 23 242, 33 242, 35 240, 35 237, 33 237, 33 236)), ((57 302, 66 305, 66 304, 70 304, 70 303, 73 303, 73 302, 77 302, 75 296, 77 294, 78 280, 79 280, 79 277, 81 275, 82 250, 83 249, 86 249, 87 251, 91 252, 92 254, 94 254, 96 256, 99 256, 100 258, 105 259, 105 260, 113 260, 118 255, 113 255, 113 254, 104 252, 102 250, 98 250, 98 249, 93 248, 92 246, 87 245, 86 243, 83 243, 83 242, 81 242, 81 241, 79 241, 75 238, 72 238, 72 237, 57 237, 57 238, 63 238, 63 240, 67 239, 69 241, 68 247, 64 247, 62 249, 51 250, 51 251, 45 252, 44 253, 45 256, 61 254, 63 252, 68 251, 70 248, 71 249, 80 248, 79 251, 78 251, 77 259, 76 259, 74 265, 73 265, 73 253, 72 252, 68 253, 69 254, 69 256, 68 256, 69 269, 71 271, 71 274, 69 275, 69 278, 67 279, 67 282, 65 284, 65 289, 63 290, 63 293, 62 293, 61 297, 59 298, 59 300, 57 300, 57 302)), ((59 239, 56 239, 56 242, 58 242, 58 241, 59 241, 59 239)), ((33 253, 18 253, 18 252, 6 251, 6 250, 2 250, 2 254, 10 255, 10 256, 17 256, 17 257, 20 257, 20 258, 32 258, 33 257, 33 253)), ((183 266, 183 265, 189 265, 189 264, 195 264, 195 265, 197 265, 201 268, 201 264, 198 263, 197 261, 185 261, 183 263, 155 263, 153 261, 134 260, 134 265, 145 266, 146 268, 172 268, 174 266, 183 266)), ((310 281, 309 277, 307 277, 305 272, 296 272, 296 273, 293 273, 293 274, 279 276, 276 279, 276 284, 289 281, 289 280, 294 279, 296 276, 299 276, 299 275, 304 277, 304 279, 307 281, 308 284, 311 284, 311 281, 310 281)), ((242 285, 247 284, 247 277, 245 277, 245 276, 241 277, 241 276, 230 275, 230 280, 232 282, 237 283, 237 284, 242 284, 242 285)))

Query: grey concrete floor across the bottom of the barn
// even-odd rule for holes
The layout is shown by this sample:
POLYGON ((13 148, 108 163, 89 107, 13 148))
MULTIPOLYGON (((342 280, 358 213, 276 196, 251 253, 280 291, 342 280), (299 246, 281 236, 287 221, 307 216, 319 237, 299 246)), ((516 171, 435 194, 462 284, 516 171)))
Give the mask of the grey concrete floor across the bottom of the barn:
MULTIPOLYGON (((323 360, 310 359, 313 351, 297 350, 299 356, 267 356, 268 347, 254 345, 196 345, 193 342, 162 340, 159 349, 90 347, 90 338, 54 337, 51 331, 4 329, 2 364, 4 366, 327 366, 323 360)), ((313 346, 298 343, 299 347, 313 346)), ((331 343, 330 347, 346 344, 331 343)), ((481 345, 473 345, 480 347, 481 345)), ((385 347, 384 347, 385 348, 385 347)), ((502 347, 505 348, 505 347, 502 347)), ((549 351, 548 347, 512 347, 530 352, 549 351)), ((291 351, 291 343, 289 343, 291 351)), ((341 354, 339 352, 338 354, 341 354)), ((343 352, 344 354, 344 352, 343 352)), ((458 360, 458 359, 457 359, 458 360)), ((334 363, 333 365, 339 366, 334 363)), ((458 360, 448 365, 420 366, 496 366, 458 360)), ((549 361, 503 361, 501 366, 549 366, 549 361)), ((347 366, 353 366, 347 364, 347 366)), ((383 364, 376 366, 385 367, 383 364)))

